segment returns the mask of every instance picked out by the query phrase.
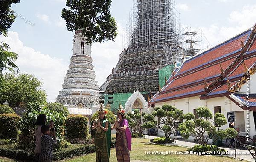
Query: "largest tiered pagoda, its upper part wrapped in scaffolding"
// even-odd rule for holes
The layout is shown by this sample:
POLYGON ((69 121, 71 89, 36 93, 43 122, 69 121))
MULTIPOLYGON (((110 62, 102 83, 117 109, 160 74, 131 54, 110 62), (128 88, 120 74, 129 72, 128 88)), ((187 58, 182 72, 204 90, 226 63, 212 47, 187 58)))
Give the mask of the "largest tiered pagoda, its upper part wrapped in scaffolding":
POLYGON ((100 91, 158 91, 159 69, 184 58, 179 54, 181 36, 175 26, 174 6, 174 0, 137 0, 136 27, 130 43, 100 91))

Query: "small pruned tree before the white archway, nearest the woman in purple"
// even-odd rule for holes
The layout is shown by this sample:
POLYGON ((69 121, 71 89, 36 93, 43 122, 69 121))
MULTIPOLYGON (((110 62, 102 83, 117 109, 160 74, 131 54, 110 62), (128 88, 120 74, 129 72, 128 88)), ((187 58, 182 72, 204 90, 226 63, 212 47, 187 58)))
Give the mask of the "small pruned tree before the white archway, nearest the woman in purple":
POLYGON ((140 111, 137 109, 134 111, 134 114, 128 112, 126 119, 128 120, 129 128, 131 128, 131 133, 138 134, 138 136, 141 136, 146 128, 153 128, 156 125, 153 115, 140 114, 140 111))

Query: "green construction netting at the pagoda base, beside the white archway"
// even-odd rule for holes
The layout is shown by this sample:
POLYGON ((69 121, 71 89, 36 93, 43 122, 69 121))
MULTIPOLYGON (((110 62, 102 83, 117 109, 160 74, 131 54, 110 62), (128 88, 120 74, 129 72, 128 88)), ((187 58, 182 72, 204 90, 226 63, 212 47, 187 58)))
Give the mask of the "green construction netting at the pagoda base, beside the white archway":
MULTIPOLYGON (((119 93, 119 94, 113 94, 113 95, 108 95, 105 94, 105 100, 104 100, 104 105, 108 104, 108 97, 113 96, 113 104, 111 105, 111 111, 116 112, 119 108, 119 103, 122 104, 123 107, 125 107, 125 102, 127 99, 132 95, 133 93, 119 93)), ((141 94, 148 94, 148 92, 141 92, 141 94)))

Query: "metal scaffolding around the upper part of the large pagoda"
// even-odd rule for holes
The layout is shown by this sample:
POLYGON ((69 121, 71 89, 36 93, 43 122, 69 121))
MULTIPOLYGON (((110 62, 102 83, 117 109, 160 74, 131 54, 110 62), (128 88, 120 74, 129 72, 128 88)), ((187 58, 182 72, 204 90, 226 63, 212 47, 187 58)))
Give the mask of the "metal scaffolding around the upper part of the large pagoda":
POLYGON ((123 48, 164 49, 161 65, 182 62, 182 28, 175 0, 133 0, 133 9, 123 32, 123 48))

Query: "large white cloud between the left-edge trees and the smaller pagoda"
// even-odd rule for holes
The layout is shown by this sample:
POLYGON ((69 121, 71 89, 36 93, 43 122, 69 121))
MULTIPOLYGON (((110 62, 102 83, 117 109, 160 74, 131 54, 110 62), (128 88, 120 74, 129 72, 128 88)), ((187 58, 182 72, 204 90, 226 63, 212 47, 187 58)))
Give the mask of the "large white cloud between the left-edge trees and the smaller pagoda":
POLYGON ((55 101, 58 91, 62 89, 68 63, 24 46, 17 32, 8 32, 8 37, 2 36, 0 41, 7 43, 10 51, 19 55, 16 65, 20 68, 20 73, 35 75, 43 82, 42 89, 46 90, 47 101, 55 101))

